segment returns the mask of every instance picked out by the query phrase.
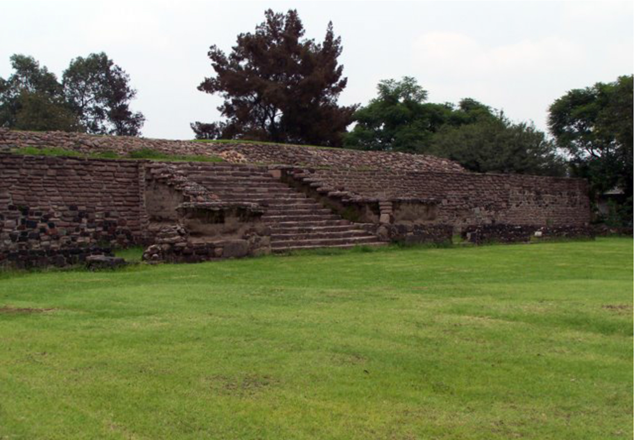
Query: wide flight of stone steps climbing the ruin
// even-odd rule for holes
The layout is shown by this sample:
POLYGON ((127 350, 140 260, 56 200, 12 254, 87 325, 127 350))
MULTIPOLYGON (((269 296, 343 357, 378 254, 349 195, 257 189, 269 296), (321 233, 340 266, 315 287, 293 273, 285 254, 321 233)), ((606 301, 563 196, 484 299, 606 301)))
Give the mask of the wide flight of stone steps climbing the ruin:
POLYGON ((245 165, 189 164, 182 168, 193 182, 223 201, 258 203, 271 229, 271 250, 283 253, 314 248, 382 246, 385 242, 297 192, 266 168, 245 165))

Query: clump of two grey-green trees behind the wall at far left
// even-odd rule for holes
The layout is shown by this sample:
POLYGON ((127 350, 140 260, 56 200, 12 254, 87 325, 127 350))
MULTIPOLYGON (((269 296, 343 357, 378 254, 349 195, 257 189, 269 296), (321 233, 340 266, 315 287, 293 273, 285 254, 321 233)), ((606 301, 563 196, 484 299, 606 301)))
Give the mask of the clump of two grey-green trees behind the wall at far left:
POLYGON ((140 135, 145 117, 129 109, 136 91, 105 53, 72 60, 60 83, 33 57, 13 55, 13 74, 0 78, 0 126, 15 130, 140 135))

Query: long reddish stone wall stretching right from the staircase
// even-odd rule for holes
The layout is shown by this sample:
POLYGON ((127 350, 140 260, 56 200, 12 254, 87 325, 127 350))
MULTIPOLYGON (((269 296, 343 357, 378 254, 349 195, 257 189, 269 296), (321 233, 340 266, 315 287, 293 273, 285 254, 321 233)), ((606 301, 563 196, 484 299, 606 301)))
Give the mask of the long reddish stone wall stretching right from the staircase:
POLYGON ((385 223, 586 225, 583 179, 477 173, 295 169, 316 192, 348 206, 380 204, 385 223), (389 206, 390 208, 383 208, 389 206))

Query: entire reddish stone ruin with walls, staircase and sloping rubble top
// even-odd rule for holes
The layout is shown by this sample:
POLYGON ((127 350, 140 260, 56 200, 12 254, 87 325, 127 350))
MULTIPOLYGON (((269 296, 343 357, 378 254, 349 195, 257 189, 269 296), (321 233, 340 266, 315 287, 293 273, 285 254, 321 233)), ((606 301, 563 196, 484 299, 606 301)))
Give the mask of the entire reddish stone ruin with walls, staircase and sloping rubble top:
POLYGON ((432 156, 0 129, 0 266, 150 262, 319 247, 591 235, 588 184, 478 174, 432 156), (23 154, 29 147, 30 154, 23 154), (38 149, 76 156, 40 156, 38 149), (138 150, 219 162, 87 158, 138 150))

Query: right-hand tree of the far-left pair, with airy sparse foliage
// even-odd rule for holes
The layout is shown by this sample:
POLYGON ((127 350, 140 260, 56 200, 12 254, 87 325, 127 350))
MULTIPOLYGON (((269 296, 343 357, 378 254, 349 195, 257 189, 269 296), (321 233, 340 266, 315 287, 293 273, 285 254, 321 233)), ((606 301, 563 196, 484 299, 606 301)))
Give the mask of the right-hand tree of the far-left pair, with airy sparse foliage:
POLYGON ((63 90, 68 103, 80 116, 88 133, 139 136, 145 117, 133 113, 129 102, 136 90, 129 75, 107 55, 91 53, 77 57, 63 73, 63 90))

